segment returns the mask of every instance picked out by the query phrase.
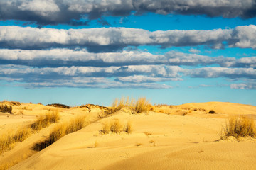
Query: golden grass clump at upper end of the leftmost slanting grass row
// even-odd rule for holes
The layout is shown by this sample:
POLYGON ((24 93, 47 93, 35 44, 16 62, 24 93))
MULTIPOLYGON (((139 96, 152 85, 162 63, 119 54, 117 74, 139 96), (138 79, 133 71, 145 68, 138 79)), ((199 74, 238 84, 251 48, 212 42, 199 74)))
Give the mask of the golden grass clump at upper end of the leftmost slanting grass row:
POLYGON ((58 120, 60 120, 60 113, 58 113, 58 111, 49 111, 46 113, 46 116, 40 115, 37 120, 31 124, 31 129, 38 131, 42 128, 46 128, 50 123, 57 123, 58 120))

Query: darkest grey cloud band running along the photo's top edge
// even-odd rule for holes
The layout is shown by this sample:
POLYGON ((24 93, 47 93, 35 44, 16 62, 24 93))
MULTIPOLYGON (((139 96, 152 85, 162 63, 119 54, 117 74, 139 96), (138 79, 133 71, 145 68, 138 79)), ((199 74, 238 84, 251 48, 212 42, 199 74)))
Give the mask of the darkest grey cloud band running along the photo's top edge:
POLYGON ((104 16, 128 16, 132 11, 137 14, 152 12, 253 18, 256 5, 252 0, 0 0, 1 20, 32 21, 40 25, 76 25, 75 21, 79 23, 84 16, 91 20, 104 16))

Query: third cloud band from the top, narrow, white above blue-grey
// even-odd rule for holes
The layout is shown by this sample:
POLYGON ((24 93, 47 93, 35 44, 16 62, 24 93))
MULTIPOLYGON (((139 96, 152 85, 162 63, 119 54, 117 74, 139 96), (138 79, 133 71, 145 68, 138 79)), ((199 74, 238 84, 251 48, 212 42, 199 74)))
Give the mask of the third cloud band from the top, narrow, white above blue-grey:
POLYGON ((164 55, 154 55, 142 51, 122 51, 92 53, 87 50, 9 50, 0 49, 0 64, 18 64, 32 67, 110 67, 127 65, 186 65, 220 67, 256 67, 256 57, 208 57, 170 51, 164 55))

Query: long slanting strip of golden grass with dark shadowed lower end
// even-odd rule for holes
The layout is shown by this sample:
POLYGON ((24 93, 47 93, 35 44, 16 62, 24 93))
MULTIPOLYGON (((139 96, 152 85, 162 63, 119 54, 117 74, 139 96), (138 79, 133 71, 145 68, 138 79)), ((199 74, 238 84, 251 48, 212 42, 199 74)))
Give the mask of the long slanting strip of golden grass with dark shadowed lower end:
POLYGON ((39 142, 34 145, 33 149, 41 151, 42 149, 52 145, 54 142, 59 140, 61 137, 68 135, 69 133, 76 132, 85 127, 85 116, 78 116, 77 118, 70 120, 68 123, 61 123, 56 125, 55 128, 50 132, 47 140, 39 142))

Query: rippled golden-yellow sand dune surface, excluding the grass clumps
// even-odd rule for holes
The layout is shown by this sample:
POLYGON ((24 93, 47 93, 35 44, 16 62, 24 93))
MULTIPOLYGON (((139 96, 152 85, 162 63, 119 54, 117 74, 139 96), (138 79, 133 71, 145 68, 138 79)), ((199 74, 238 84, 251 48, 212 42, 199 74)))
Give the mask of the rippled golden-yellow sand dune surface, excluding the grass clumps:
MULTIPOLYGON (((17 112, 18 107, 23 106, 16 106, 17 112)), ((39 106, 30 107, 36 110, 39 106)), ((54 127, 54 124, 50 125, 4 152, 0 163, 16 156, 20 157, 16 159, 24 160, 11 169, 256 169, 255 139, 245 138, 238 142, 229 137, 228 140, 219 140, 222 125, 231 114, 252 115, 253 118, 256 106, 188 103, 157 106, 154 111, 142 114, 131 114, 124 108, 99 118, 102 109, 92 106, 89 112, 85 107, 58 108, 60 122, 87 114, 90 125, 66 135, 40 152, 32 151, 32 145, 46 138, 54 127), (210 110, 217 114, 209 114, 210 110), (183 112, 186 115, 181 115, 183 112), (132 123, 132 133, 102 134, 103 124, 112 120, 119 120, 122 125, 132 123), (32 156, 26 159, 23 154, 32 156)), ((28 112, 28 115, 36 116, 36 113, 28 112)), ((16 116, 19 118, 20 115, 8 118, 16 121, 16 116)), ((26 116, 24 113, 24 123, 33 120, 26 116)))

